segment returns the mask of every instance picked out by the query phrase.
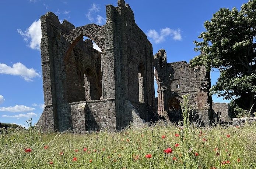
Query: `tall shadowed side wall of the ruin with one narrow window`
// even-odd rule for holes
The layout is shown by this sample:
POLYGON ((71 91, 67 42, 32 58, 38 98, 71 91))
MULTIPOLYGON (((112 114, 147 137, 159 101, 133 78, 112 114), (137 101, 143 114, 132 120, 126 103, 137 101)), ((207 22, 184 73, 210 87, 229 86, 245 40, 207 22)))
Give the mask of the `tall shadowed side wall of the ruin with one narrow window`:
POLYGON ((154 115, 151 111, 154 107, 152 44, 136 25, 133 11, 123 0, 118 1, 118 7, 107 6, 107 24, 113 33, 113 48, 109 51, 113 51, 115 59, 116 123, 122 128, 132 121, 126 100, 145 105, 147 108, 141 114, 154 115))

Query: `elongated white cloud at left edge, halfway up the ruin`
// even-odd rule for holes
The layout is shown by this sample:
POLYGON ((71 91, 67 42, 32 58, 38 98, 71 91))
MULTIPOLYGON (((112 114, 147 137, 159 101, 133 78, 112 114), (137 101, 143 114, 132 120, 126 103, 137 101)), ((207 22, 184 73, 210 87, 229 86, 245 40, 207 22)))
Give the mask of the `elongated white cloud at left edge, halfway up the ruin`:
POLYGON ((41 77, 33 68, 29 69, 22 63, 14 63, 13 67, 0 63, 0 74, 17 75, 24 78, 25 81, 32 81, 34 77, 41 77))

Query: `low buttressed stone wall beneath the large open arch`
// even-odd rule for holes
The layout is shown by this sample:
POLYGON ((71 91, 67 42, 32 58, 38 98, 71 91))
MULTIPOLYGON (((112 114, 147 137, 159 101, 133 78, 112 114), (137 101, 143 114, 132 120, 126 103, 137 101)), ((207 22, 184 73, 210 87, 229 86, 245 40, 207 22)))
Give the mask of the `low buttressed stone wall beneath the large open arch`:
POLYGON ((115 99, 69 103, 72 128, 75 133, 116 129, 115 99))

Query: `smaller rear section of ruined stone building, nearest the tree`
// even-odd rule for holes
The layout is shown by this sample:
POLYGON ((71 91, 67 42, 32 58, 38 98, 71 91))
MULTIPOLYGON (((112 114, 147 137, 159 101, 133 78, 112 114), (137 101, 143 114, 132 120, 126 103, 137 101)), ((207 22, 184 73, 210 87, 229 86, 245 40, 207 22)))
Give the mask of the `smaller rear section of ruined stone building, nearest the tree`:
POLYGON ((191 67, 187 62, 166 63, 166 52, 159 50, 154 56, 155 77, 158 85, 158 114, 168 120, 179 120, 182 95, 189 95, 189 105, 196 110, 204 125, 212 121, 210 73, 204 66, 191 67))

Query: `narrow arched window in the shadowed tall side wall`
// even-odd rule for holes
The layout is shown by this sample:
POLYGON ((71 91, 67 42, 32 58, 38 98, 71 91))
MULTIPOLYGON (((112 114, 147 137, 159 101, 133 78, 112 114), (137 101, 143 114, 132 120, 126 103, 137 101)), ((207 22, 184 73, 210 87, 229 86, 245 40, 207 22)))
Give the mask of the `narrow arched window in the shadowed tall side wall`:
POLYGON ((144 73, 144 66, 142 63, 140 63, 138 67, 138 96, 139 96, 139 102, 145 103, 145 73, 144 73))

